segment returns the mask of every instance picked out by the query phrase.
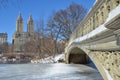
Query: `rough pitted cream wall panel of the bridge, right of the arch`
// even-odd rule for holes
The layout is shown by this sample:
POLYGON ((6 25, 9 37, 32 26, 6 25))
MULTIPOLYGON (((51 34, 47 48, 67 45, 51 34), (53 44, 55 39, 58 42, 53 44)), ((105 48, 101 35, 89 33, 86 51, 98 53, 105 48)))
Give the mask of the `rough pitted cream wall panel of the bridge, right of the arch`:
MULTIPOLYGON (((120 80, 120 52, 93 51, 89 56, 92 58, 93 62, 99 63, 107 70, 113 80, 120 80)), ((98 65, 96 66, 99 67, 98 65)))

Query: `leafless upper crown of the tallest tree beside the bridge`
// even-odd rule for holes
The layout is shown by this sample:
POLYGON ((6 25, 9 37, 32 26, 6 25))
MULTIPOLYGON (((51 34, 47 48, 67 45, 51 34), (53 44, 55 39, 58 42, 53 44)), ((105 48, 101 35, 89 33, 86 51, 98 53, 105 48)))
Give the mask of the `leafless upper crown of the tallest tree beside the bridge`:
POLYGON ((53 14, 48 21, 48 26, 55 31, 56 38, 68 40, 71 33, 84 18, 86 9, 79 4, 72 3, 65 10, 53 14))

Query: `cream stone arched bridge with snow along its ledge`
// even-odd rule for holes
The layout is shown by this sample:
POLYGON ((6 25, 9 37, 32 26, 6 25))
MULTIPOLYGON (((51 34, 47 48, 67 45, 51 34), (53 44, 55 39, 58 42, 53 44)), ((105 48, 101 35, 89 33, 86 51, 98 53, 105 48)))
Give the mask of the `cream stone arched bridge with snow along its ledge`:
POLYGON ((66 63, 91 59, 104 80, 120 80, 120 0, 96 0, 72 33, 66 63))

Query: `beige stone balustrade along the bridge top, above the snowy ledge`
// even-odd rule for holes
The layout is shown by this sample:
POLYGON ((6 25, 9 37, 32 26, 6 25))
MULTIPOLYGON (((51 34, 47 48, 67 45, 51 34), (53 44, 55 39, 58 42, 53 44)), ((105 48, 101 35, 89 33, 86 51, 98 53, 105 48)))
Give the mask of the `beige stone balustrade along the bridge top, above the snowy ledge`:
POLYGON ((72 33, 69 43, 78 37, 89 34, 109 21, 108 14, 120 4, 120 0, 97 0, 87 16, 72 33))

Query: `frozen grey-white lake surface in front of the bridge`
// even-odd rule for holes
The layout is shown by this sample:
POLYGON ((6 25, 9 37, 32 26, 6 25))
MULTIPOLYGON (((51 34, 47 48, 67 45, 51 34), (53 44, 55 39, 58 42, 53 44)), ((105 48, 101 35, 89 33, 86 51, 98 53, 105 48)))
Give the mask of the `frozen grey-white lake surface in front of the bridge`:
POLYGON ((80 64, 0 64, 0 80, 103 80, 80 64))

